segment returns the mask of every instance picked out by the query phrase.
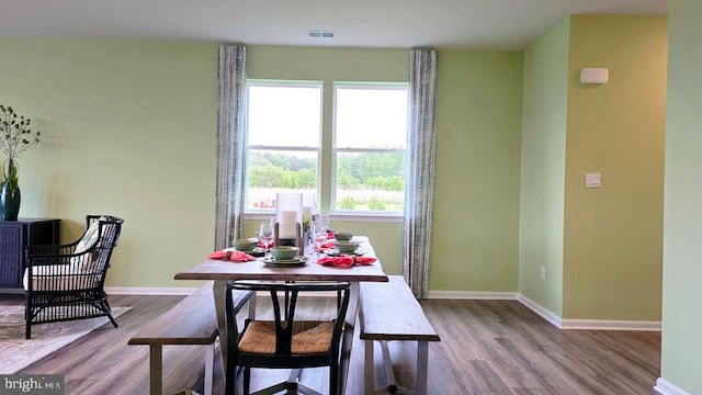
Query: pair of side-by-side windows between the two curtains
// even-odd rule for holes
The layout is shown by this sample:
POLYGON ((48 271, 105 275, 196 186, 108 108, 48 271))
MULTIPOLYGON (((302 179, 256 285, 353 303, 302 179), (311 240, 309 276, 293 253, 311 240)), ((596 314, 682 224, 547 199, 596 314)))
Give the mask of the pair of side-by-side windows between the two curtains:
POLYGON ((332 88, 325 98, 321 82, 247 81, 247 212, 271 212, 278 192, 301 192, 314 193, 321 212, 401 215, 407 84, 332 88))

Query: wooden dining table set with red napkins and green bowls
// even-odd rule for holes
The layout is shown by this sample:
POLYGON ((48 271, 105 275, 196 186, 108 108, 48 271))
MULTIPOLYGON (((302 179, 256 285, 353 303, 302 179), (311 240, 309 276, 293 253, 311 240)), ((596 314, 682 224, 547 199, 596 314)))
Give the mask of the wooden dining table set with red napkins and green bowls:
MULTIPOLYGON (((351 284, 349 308, 346 317, 344 335, 341 339, 340 361, 340 388, 346 391, 346 384, 351 358, 351 346, 355 319, 359 308, 360 282, 387 282, 387 274, 383 271, 381 260, 375 256, 372 244, 365 236, 354 236, 359 241, 358 253, 365 258, 375 258, 370 264, 353 264, 351 267, 325 266, 317 260, 325 253, 316 252, 312 248, 305 248, 305 264, 271 266, 267 260, 259 258, 251 261, 234 262, 222 259, 206 259, 200 264, 180 271, 176 280, 214 280, 213 294, 217 314, 219 334, 226 334, 225 320, 225 290, 227 282, 236 280, 259 281, 348 281, 351 284)), ((249 302, 249 318, 256 315, 256 302, 249 302)), ((219 336, 219 345, 223 354, 223 363, 226 363, 227 337, 219 336)), ((229 377, 225 377, 227 380, 229 377)))

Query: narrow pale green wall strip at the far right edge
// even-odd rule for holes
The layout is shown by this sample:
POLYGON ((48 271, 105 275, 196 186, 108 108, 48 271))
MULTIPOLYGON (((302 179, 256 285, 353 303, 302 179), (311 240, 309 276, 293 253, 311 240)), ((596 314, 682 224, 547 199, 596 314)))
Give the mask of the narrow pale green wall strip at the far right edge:
POLYGON ((702 394, 702 3, 670 2, 661 377, 702 394))

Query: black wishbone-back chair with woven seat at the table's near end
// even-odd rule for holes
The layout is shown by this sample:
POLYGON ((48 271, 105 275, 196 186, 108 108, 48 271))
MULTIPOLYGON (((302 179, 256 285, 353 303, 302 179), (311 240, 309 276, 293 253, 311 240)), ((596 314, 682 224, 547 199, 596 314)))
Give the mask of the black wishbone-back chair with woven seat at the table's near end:
MULTIPOLYGON (((251 368, 291 369, 287 382, 283 382, 254 394, 274 394, 287 390, 306 394, 319 394, 317 391, 297 381, 299 369, 329 366, 329 394, 340 391, 340 346, 344 330, 344 317, 349 307, 350 284, 348 282, 295 282, 265 283, 236 281, 227 284, 226 324, 227 324, 227 363, 226 391, 233 395, 239 368, 244 368, 244 393, 249 394, 251 368), (235 290, 265 291, 271 295, 273 320, 247 319, 242 332, 239 332, 231 293, 235 290), (327 313, 327 317, 309 320, 296 319, 295 307, 301 293, 329 292, 337 298, 337 308, 327 313), (281 304, 281 298, 284 303, 281 304)), ((320 312, 320 317, 324 312, 320 312)))

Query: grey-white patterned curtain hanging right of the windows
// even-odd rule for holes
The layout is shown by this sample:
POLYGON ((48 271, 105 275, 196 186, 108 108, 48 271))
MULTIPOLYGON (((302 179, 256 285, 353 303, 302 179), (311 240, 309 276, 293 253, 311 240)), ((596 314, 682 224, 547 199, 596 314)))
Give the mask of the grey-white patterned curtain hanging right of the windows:
POLYGON ((405 184, 404 274, 417 297, 429 294, 434 189, 437 50, 409 50, 409 150, 405 184))

